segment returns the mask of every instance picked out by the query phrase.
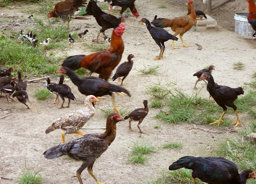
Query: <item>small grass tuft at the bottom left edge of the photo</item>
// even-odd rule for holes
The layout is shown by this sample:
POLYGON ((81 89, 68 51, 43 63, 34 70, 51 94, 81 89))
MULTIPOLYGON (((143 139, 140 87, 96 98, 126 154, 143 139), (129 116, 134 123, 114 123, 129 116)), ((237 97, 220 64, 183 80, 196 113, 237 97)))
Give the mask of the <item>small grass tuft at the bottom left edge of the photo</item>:
POLYGON ((42 184, 43 183, 43 177, 38 174, 40 170, 36 170, 34 168, 28 168, 26 166, 25 162, 25 167, 21 168, 23 171, 22 174, 20 174, 20 177, 18 177, 18 183, 19 184, 42 184))

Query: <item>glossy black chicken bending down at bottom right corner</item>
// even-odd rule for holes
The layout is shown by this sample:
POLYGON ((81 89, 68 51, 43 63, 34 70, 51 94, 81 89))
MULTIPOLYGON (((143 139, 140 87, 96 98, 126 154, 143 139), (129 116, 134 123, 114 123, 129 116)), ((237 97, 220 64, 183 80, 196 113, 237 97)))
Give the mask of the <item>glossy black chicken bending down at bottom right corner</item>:
POLYGON ((208 184, 246 184, 248 178, 254 178, 252 170, 243 170, 240 174, 234 162, 223 157, 192 157, 185 156, 169 166, 169 170, 179 168, 193 170, 192 184, 196 184, 195 178, 208 184))

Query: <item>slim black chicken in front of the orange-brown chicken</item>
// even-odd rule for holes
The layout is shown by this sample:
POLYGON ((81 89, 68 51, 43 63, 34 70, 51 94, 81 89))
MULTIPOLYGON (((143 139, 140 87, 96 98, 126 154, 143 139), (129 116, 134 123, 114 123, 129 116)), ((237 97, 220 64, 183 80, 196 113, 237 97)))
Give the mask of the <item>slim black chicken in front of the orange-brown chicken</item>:
POLYGON ((146 18, 142 18, 140 22, 146 23, 146 26, 148 28, 148 31, 150 32, 150 35, 152 36, 156 44, 160 47, 160 54, 159 56, 156 56, 154 60, 163 59, 164 50, 165 50, 164 42, 168 41, 169 39, 177 41, 178 38, 168 33, 168 31, 166 31, 161 27, 151 26, 149 20, 147 20, 146 18))

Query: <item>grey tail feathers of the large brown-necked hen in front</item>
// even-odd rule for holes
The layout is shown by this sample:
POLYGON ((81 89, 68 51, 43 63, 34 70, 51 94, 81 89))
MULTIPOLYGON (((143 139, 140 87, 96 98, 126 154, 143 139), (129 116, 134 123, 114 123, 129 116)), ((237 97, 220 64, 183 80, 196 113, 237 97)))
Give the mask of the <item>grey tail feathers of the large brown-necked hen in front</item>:
POLYGON ((64 143, 51 147, 50 149, 44 152, 44 158, 56 159, 58 157, 62 157, 63 155, 66 155, 68 151, 70 151, 72 146, 72 144, 64 143))

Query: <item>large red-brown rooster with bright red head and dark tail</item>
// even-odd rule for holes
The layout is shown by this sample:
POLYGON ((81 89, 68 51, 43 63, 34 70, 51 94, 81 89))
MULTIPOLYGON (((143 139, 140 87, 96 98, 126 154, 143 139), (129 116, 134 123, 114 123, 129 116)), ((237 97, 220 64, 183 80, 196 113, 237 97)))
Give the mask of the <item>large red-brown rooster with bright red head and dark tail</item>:
POLYGON ((124 41, 122 34, 125 32, 125 26, 120 24, 116 27, 111 36, 110 49, 98 51, 90 55, 74 55, 63 61, 62 66, 72 70, 77 70, 81 67, 96 72, 99 78, 108 80, 112 70, 116 68, 122 58, 124 52, 124 41))

